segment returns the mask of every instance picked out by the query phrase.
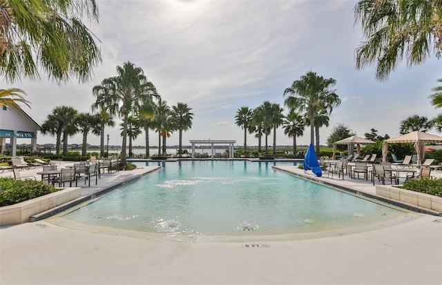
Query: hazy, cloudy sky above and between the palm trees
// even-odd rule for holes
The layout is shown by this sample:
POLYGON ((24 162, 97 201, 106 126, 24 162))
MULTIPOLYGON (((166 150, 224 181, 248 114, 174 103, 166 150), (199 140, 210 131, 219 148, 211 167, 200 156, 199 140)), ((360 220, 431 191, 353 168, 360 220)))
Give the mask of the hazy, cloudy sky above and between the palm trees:
MULTIPOLYGON (((256 108, 263 101, 284 107, 285 88, 313 71, 336 79, 334 88, 342 100, 329 127, 320 128, 320 144, 326 144, 337 124, 361 137, 372 128, 378 135, 397 137, 407 117, 431 119, 441 112, 428 99, 442 78, 441 60, 431 55, 419 66, 402 62, 385 82, 376 81, 374 66, 356 70, 355 50, 365 40, 354 24, 356 3, 97 0, 99 23, 88 25, 99 39, 102 63, 88 82, 73 79, 58 85, 41 72, 37 81, 0 79, 0 88, 23 89, 31 102, 31 108, 23 110, 41 126, 57 106, 91 112, 93 87, 116 76, 117 66, 130 61, 144 70, 169 106, 182 102, 192 108, 193 124, 183 132, 184 145, 190 139, 235 139, 236 146, 242 146, 244 132, 235 124, 238 109, 256 108)), ((120 122, 105 130, 109 145, 122 144, 120 122)), ((278 146, 293 144, 282 128, 276 133, 278 146)), ((309 144, 309 134, 307 127, 297 144, 309 144)), ((157 133, 149 136, 156 146, 157 133)), ((81 144, 81 135, 68 142, 81 144)), ((39 133, 37 144, 55 144, 55 138, 39 133)), ((88 144, 99 145, 99 137, 90 134, 88 144)), ((144 134, 133 144, 144 145, 144 134)), ((174 132, 167 145, 177 144, 174 132)), ((258 139, 248 135, 247 145, 257 146, 258 139)))

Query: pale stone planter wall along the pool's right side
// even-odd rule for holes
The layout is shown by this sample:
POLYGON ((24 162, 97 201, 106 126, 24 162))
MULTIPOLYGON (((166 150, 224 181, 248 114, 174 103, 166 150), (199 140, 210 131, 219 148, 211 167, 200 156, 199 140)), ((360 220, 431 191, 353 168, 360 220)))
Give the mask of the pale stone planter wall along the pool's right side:
POLYGON ((442 197, 387 185, 376 186, 376 195, 442 213, 442 197))

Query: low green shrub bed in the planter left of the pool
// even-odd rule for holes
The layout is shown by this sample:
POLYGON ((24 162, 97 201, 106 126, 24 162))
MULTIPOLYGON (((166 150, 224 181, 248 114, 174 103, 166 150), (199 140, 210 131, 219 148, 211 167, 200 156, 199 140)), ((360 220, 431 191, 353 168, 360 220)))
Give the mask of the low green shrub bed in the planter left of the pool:
POLYGON ((0 178, 0 206, 8 206, 27 201, 46 194, 57 192, 59 189, 44 181, 32 179, 16 180, 11 177, 0 178))

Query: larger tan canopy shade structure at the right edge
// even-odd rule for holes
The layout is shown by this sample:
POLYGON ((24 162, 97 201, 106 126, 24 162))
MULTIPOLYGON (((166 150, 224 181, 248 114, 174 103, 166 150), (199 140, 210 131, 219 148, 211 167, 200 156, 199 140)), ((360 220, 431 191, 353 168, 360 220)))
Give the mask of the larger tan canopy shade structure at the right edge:
POLYGON ((382 161, 385 162, 385 159, 387 159, 388 144, 414 144, 414 149, 417 153, 417 164, 421 164, 425 153, 425 144, 437 144, 441 142, 442 137, 439 137, 439 135, 427 134, 426 132, 420 132, 419 130, 409 132, 400 137, 385 139, 382 145, 382 161))

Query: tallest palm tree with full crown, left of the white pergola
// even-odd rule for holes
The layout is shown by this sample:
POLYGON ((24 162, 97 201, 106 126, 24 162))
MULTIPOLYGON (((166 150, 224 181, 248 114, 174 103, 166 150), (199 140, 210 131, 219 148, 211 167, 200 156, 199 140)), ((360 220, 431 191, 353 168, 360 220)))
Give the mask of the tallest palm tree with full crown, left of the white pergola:
POLYGON ((126 62, 117 66, 118 76, 104 79, 100 85, 94 86, 93 94, 97 100, 93 110, 100 108, 112 116, 123 119, 122 157, 121 164, 126 164, 126 138, 129 114, 140 114, 146 107, 146 98, 158 97, 153 83, 144 76, 142 68, 126 62))

